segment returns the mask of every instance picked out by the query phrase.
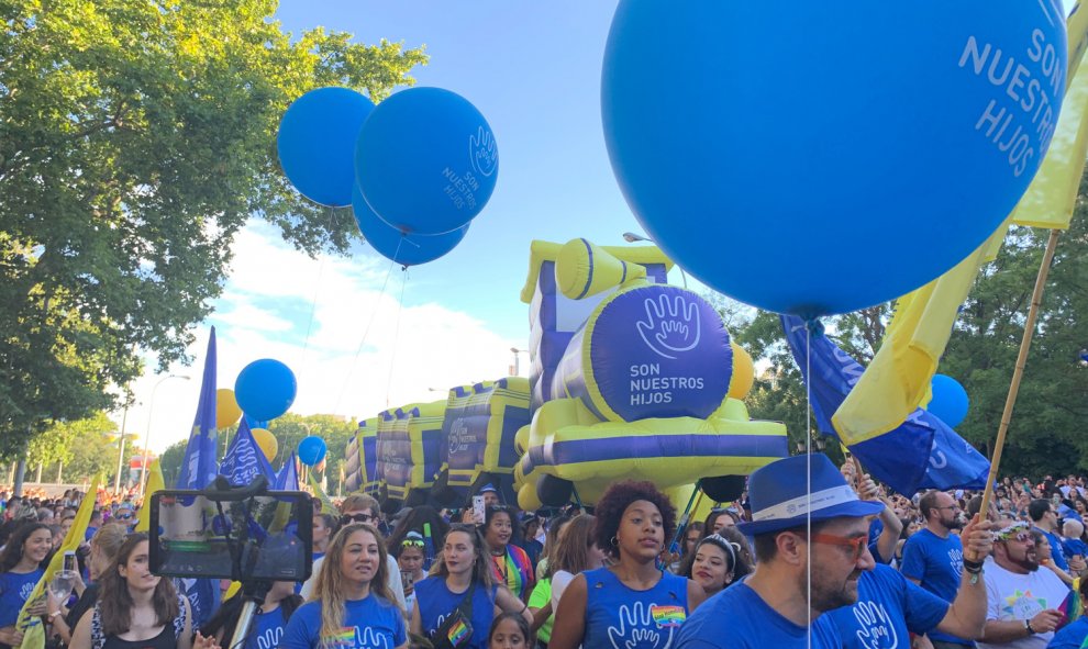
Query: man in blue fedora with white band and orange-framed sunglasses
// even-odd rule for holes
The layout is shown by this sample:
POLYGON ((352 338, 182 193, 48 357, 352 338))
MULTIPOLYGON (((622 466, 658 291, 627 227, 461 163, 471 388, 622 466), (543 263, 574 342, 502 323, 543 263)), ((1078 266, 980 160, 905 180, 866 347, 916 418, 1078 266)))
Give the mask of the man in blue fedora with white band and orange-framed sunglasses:
POLYGON ((801 648, 810 630, 811 647, 841 647, 834 627, 810 625, 857 601, 858 577, 875 566, 869 522, 884 503, 858 500, 819 454, 757 469, 748 496, 752 522, 736 528, 755 538, 755 572, 699 606, 676 649, 801 648))

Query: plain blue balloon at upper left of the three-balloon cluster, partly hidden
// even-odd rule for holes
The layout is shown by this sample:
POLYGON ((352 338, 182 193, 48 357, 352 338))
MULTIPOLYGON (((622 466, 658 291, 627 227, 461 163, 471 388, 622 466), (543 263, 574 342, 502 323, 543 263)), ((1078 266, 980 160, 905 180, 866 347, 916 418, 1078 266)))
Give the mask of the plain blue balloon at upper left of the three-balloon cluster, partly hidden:
POLYGON ((279 164, 299 193, 322 205, 352 203, 355 142, 374 103, 348 88, 318 88, 295 100, 279 123, 279 164))

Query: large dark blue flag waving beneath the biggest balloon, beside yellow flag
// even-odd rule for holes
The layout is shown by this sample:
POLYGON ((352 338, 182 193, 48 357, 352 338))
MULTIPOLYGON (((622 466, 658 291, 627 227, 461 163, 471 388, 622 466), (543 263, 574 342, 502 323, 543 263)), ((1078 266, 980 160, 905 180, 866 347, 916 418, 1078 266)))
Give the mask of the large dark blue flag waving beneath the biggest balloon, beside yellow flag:
MULTIPOLYGON (((781 321, 793 360, 812 395, 817 425, 822 433, 837 437, 831 415, 865 368, 828 339, 818 324, 807 334, 809 325, 801 318, 784 315, 781 321), (806 355, 810 351, 807 373, 806 355)), ((899 427, 847 448, 874 478, 906 495, 922 489, 982 489, 990 470, 989 461, 975 447, 922 409, 912 412, 899 427)))

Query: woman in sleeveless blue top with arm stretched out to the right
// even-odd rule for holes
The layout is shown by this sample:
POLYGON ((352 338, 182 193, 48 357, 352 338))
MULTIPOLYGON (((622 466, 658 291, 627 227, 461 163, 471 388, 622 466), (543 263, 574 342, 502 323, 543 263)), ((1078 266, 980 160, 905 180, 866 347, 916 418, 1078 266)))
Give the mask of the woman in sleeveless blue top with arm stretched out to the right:
MULTIPOLYGON (((485 649, 488 629, 496 614, 517 613, 526 624, 532 616, 524 603, 506 586, 491 579, 491 559, 486 544, 474 525, 458 523, 449 527, 442 557, 431 569, 431 577, 415 584, 415 609, 412 633, 426 636, 435 647, 452 645, 458 649, 485 649), (447 617, 459 611, 471 626, 468 639, 436 637, 447 617)), ((467 634, 466 634, 467 635, 467 634)))

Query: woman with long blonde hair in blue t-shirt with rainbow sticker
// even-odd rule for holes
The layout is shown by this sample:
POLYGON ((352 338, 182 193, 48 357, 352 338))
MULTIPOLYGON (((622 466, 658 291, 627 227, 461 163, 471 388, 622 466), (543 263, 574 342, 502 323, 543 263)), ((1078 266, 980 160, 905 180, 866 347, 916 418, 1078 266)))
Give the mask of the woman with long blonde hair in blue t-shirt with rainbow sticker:
POLYGON ((345 525, 333 537, 313 598, 287 623, 287 649, 408 647, 404 616, 389 591, 386 546, 368 523, 345 525))

